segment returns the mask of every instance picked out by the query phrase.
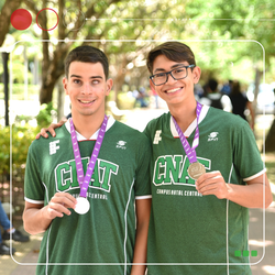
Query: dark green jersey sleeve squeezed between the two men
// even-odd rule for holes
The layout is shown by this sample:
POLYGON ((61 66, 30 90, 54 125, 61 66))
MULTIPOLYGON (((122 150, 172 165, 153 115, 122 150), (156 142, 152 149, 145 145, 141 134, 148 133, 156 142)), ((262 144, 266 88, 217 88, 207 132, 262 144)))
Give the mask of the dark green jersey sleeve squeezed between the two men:
POLYGON ((151 165, 152 148, 148 139, 144 136, 138 148, 138 169, 135 175, 135 199, 152 197, 151 193, 151 165))

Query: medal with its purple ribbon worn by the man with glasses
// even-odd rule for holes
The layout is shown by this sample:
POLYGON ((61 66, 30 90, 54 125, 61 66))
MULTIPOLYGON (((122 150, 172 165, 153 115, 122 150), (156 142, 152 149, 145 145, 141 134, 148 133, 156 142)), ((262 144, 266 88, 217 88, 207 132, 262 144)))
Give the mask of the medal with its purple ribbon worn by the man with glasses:
POLYGON ((202 106, 197 102, 197 109, 196 109, 196 113, 197 113, 197 127, 196 127, 196 132, 195 132, 195 138, 194 138, 194 143, 196 144, 194 147, 190 147, 188 141, 186 140, 183 131, 180 130, 179 125, 177 124, 176 120, 173 118, 174 124, 176 127, 179 140, 183 144, 183 147, 185 150, 185 153, 190 162, 190 165, 187 169, 187 173, 189 175, 190 178, 197 180, 201 175, 204 175, 206 173, 206 168, 205 166, 198 162, 197 160, 197 154, 195 148, 198 146, 199 144, 199 116, 201 112, 201 108, 202 106))

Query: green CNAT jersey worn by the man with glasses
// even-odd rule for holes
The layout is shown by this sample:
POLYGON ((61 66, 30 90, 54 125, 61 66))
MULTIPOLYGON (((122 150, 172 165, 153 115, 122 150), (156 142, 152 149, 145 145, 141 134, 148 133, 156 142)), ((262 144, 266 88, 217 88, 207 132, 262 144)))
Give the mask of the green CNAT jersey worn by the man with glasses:
MULTIPOLYGON (((185 132, 190 145, 196 125, 185 132)), ((198 194, 170 113, 144 132, 153 146, 147 275, 251 274, 249 257, 235 256, 249 250, 249 209, 198 194)), ((245 185, 265 172, 249 123, 211 107, 202 107, 196 152, 206 172, 220 170, 227 183, 245 185)))

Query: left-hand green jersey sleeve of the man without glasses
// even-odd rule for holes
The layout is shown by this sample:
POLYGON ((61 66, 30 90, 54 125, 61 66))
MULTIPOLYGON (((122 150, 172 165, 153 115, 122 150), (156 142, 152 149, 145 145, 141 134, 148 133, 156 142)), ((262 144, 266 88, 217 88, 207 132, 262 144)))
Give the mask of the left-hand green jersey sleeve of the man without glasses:
POLYGON ((32 204, 44 204, 45 188, 41 180, 37 155, 35 154, 34 141, 28 152, 25 178, 24 178, 24 197, 32 204))

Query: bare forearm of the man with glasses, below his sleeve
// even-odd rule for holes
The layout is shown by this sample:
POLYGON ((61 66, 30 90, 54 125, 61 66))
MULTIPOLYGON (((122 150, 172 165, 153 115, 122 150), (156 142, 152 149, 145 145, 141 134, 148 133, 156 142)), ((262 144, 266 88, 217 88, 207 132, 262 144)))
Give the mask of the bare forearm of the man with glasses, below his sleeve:
POLYGON ((270 186, 263 184, 234 185, 227 184, 227 199, 246 208, 267 208, 272 202, 270 186))

